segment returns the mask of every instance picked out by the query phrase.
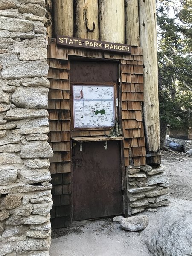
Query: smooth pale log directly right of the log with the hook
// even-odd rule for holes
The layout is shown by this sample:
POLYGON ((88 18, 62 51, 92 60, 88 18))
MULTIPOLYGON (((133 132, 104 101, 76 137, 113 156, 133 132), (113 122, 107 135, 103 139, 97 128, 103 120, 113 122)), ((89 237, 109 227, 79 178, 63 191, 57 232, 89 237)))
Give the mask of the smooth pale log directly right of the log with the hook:
POLYGON ((125 42, 124 0, 99 0, 100 40, 125 42))

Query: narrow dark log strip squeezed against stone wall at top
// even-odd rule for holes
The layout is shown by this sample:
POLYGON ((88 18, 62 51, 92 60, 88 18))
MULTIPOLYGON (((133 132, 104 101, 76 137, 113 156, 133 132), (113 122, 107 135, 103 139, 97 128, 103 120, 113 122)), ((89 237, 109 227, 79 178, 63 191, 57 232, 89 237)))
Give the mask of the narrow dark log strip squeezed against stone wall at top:
POLYGON ((52 0, 45 1, 45 8, 47 10, 45 14, 45 27, 47 29, 47 37, 52 38, 52 0))

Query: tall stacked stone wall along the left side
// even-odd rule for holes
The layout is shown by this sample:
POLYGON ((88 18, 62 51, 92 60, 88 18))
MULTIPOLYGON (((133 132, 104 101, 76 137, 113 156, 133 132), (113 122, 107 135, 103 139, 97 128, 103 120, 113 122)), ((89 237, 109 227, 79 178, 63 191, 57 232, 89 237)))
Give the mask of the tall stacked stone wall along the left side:
POLYGON ((0 0, 0 256, 49 256, 44 0, 0 0))

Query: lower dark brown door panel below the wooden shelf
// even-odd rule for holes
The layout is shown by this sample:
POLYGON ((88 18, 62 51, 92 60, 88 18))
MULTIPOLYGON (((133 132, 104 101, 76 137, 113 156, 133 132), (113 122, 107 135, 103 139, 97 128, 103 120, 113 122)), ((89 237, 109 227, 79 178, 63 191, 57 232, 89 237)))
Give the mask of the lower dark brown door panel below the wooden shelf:
POLYGON ((73 220, 122 214, 119 141, 79 143, 73 148, 73 220))

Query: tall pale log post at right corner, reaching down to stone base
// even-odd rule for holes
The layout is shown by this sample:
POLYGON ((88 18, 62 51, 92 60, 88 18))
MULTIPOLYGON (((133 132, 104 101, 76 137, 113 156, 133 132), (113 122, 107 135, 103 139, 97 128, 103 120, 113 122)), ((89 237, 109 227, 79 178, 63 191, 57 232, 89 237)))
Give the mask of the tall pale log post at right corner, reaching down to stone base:
POLYGON ((157 30, 155 0, 139 0, 140 47, 144 64, 144 127, 148 164, 160 164, 157 30))

